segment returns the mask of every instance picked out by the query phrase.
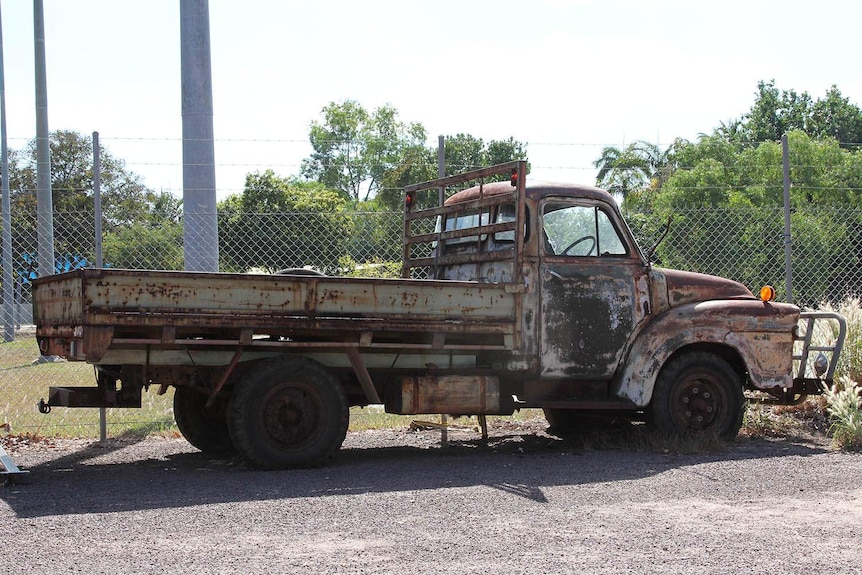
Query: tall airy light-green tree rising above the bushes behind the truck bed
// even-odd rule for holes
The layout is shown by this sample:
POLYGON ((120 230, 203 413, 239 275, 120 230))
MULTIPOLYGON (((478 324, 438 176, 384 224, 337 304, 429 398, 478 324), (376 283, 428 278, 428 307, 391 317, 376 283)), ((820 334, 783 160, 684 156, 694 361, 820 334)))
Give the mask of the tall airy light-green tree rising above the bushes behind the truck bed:
POLYGON ((314 151, 303 161, 302 175, 353 201, 373 197, 384 176, 425 145, 425 128, 400 121, 389 105, 368 112, 346 100, 329 103, 321 114, 321 121, 311 123, 314 151))

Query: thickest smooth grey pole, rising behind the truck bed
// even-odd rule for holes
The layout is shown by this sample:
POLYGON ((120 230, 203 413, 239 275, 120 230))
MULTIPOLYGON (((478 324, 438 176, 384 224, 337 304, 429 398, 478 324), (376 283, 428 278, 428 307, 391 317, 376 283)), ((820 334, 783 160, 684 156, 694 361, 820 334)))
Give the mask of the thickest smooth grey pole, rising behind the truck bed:
POLYGON ((208 0, 180 0, 183 239, 187 271, 218 271, 208 0))

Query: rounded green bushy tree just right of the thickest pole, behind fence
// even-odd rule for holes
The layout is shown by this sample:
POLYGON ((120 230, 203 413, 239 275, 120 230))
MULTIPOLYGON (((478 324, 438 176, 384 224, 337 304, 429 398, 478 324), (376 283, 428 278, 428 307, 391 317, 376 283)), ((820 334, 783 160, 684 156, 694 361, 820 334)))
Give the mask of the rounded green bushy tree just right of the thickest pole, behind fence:
POLYGON ((347 204, 319 182, 272 170, 248 174, 242 194, 219 203, 221 269, 271 273, 310 265, 335 271, 353 228, 347 204))

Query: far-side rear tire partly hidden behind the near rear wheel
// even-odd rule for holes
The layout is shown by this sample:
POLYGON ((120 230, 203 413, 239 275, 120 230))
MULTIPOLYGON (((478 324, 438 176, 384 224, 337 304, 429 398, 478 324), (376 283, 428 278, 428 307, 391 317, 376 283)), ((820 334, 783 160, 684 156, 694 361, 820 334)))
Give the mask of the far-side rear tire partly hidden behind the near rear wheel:
POLYGON ((190 387, 174 390, 174 420, 186 441, 204 453, 235 451, 227 429, 227 402, 217 399, 206 409, 207 396, 190 387))

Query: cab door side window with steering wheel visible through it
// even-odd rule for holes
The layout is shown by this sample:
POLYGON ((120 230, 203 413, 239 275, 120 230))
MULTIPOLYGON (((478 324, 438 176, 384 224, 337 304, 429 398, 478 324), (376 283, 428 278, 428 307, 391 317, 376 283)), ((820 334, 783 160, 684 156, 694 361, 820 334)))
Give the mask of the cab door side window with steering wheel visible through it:
POLYGON ((596 206, 549 202, 542 214, 545 253, 558 256, 625 256, 625 243, 596 206))

